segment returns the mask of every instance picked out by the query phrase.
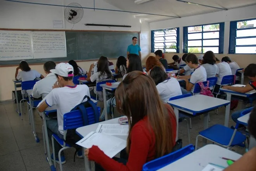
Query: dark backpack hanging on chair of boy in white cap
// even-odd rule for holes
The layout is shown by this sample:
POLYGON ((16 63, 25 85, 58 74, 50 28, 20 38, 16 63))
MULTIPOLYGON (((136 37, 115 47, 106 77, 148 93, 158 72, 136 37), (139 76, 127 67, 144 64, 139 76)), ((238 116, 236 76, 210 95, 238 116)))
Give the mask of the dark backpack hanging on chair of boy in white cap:
MULTIPOLYGON (((83 125, 84 126, 89 125, 86 108, 90 108, 90 107, 92 107, 92 109, 94 111, 95 123, 99 122, 99 118, 96 117, 96 116, 98 116, 98 113, 99 113, 98 108, 97 108, 96 104, 94 104, 93 101, 88 96, 83 97, 82 102, 80 104, 76 105, 73 109, 71 109, 71 111, 80 110, 82 117, 83 117, 83 125), (83 102, 86 98, 87 98, 87 101, 83 102)), ((75 161, 75 157, 76 157, 76 152, 78 152, 78 150, 80 150, 82 148, 80 145, 77 145, 76 142, 78 142, 81 139, 82 138, 79 135, 77 135, 77 133, 76 133, 76 128, 67 130, 66 140, 64 140, 64 141, 68 145, 70 145, 71 147, 74 147, 76 149, 76 151, 74 153, 74 161, 75 161)))

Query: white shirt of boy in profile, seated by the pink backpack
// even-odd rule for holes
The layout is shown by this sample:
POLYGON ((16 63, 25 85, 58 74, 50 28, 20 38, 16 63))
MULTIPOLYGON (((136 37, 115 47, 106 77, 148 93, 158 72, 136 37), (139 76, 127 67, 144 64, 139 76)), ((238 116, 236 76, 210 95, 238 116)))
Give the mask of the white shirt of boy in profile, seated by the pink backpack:
POLYGON ((204 67, 200 66, 195 68, 195 71, 193 72, 193 74, 190 77, 189 82, 191 82, 192 84, 194 84, 194 86, 191 89, 191 92, 194 91, 195 89, 195 84, 197 82, 203 82, 207 80, 207 74, 206 74, 206 70, 204 67))

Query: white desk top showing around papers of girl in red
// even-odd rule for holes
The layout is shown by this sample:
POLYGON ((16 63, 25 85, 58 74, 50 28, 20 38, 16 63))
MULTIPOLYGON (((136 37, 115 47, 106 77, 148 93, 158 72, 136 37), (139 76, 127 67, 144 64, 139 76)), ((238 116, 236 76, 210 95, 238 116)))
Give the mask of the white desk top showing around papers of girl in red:
MULTIPOLYGON (((107 121, 103 121, 103 122, 99 122, 101 124, 119 124, 118 122, 118 118, 114 118, 114 119, 111 119, 111 120, 107 120, 107 121)), ((81 137, 85 137, 88 133, 92 132, 92 131, 96 131, 98 126, 99 126, 99 123, 94 123, 92 125, 87 125, 87 126, 84 126, 84 127, 80 127, 80 128, 77 128, 76 129, 76 133, 78 135, 80 135, 81 137)), ((123 140, 126 140, 127 139, 127 135, 126 136, 121 136, 121 135, 114 135, 115 137, 119 137, 123 140)))

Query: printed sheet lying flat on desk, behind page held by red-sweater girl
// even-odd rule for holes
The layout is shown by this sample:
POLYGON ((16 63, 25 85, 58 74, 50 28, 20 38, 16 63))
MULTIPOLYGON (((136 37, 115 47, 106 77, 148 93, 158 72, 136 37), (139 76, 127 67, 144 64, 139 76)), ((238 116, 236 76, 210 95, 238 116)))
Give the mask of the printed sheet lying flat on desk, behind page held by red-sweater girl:
POLYGON ((128 135, 129 126, 120 124, 99 124, 96 132, 107 135, 128 135))

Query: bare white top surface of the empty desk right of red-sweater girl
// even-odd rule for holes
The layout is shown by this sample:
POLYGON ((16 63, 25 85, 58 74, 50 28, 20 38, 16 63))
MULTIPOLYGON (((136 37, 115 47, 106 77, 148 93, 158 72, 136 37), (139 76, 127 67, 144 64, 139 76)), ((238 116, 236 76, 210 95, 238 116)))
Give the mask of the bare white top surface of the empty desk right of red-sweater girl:
POLYGON ((179 110, 182 109, 182 111, 188 111, 189 113, 196 114, 228 105, 230 101, 198 94, 195 96, 168 101, 167 103, 179 110))

